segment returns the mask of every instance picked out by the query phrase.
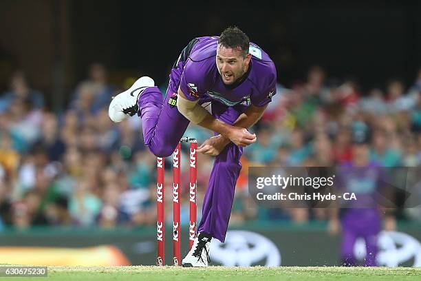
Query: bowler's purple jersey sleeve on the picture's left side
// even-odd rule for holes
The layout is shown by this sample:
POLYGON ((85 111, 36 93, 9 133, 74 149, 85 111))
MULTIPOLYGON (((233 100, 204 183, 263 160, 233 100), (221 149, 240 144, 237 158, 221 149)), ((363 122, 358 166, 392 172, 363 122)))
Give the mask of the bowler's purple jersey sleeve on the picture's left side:
POLYGON ((197 101, 204 94, 206 72, 201 64, 188 61, 184 66, 180 81, 180 90, 189 101, 197 101))

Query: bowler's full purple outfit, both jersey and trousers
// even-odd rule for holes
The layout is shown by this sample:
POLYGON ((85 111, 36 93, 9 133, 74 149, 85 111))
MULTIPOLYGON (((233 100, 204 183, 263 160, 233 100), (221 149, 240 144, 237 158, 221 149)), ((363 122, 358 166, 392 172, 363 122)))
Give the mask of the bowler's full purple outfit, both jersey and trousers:
MULTIPOLYGON (((249 105, 266 105, 276 93, 274 63, 254 43, 250 43, 252 59, 246 78, 238 85, 225 85, 216 65, 217 40, 218 37, 200 37, 188 43, 171 70, 164 98, 156 86, 148 87, 139 96, 144 144, 155 156, 171 155, 190 123, 177 109, 179 88, 191 101, 211 101, 213 117, 230 125, 249 105)), ((221 242, 228 229, 242 153, 243 147, 229 143, 215 156, 204 196, 197 232, 208 233, 221 242)))

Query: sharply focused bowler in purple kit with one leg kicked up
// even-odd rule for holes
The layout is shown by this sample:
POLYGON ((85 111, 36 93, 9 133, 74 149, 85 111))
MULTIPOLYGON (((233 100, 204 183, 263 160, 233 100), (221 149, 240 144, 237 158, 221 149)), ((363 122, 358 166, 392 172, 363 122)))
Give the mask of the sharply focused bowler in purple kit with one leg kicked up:
POLYGON ((227 28, 220 37, 188 43, 173 65, 164 100, 153 79, 144 76, 109 105, 114 122, 134 114, 142 118, 144 144, 158 157, 173 153, 190 122, 215 132, 197 149, 216 157, 199 235, 182 261, 185 267, 206 267, 210 240, 225 240, 242 147, 257 139, 246 128, 263 115, 276 94, 276 81, 268 54, 239 28, 227 28))

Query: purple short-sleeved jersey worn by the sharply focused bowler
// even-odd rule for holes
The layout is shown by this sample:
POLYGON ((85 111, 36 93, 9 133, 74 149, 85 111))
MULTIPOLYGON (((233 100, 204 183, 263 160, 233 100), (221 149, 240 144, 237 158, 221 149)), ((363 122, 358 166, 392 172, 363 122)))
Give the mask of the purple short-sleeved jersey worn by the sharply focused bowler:
POLYGON ((227 106, 263 106, 276 94, 277 70, 268 54, 255 43, 250 43, 252 54, 247 78, 239 85, 225 85, 217 70, 216 52, 219 37, 199 37, 193 40, 188 54, 180 56, 176 65, 184 64, 180 89, 188 98, 195 101, 213 99, 227 106), (182 56, 185 56, 184 58, 182 56), (183 60, 184 59, 184 60, 183 60))

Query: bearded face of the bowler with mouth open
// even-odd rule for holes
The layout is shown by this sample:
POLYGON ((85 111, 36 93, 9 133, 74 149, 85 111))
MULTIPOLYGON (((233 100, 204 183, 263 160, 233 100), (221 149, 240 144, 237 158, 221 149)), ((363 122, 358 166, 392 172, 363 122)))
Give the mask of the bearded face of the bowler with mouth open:
POLYGON ((218 45, 216 63, 222 81, 231 85, 248 70, 251 54, 243 56, 239 48, 231 49, 218 45))

